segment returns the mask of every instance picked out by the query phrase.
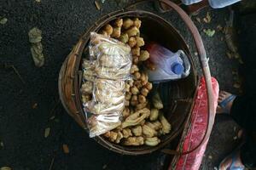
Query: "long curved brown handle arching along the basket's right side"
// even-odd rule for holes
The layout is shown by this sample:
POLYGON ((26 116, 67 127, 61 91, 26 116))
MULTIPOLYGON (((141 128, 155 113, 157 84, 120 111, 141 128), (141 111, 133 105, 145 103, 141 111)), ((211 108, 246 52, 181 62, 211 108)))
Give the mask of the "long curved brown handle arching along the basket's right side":
MULTIPOLYGON (((148 0, 138 0, 136 3, 131 4, 127 8, 132 8, 136 6, 138 3, 143 3, 148 0)), ((149 0, 154 2, 154 0, 149 0)), ((212 127, 214 123, 214 103, 213 103, 213 94, 212 94, 212 80, 211 80, 211 73, 208 65, 208 58, 207 58, 207 53, 206 49, 204 48, 204 44, 202 42, 201 36, 199 31, 197 30, 194 22, 189 18, 189 15, 186 14, 182 8, 177 6, 176 3, 172 3, 170 0, 158 0, 160 3, 165 3, 169 8, 172 8, 178 15, 179 17, 183 20, 184 24, 188 27, 190 33, 193 36, 194 42, 195 42, 195 47, 198 52, 198 57, 200 59, 201 63, 201 69, 203 72, 203 75, 205 77, 206 81, 206 86, 207 86, 207 102, 208 102, 208 116, 207 116, 207 130, 206 133, 204 134, 203 138, 201 139, 201 142, 192 150, 188 150, 185 152, 177 151, 177 150, 169 150, 169 149, 164 149, 162 150, 166 154, 171 154, 171 155, 186 155, 189 154, 195 150, 197 150, 201 144, 207 142, 207 139, 210 137, 210 134, 212 132, 212 127)), ((126 9, 127 9, 126 8, 126 9)))

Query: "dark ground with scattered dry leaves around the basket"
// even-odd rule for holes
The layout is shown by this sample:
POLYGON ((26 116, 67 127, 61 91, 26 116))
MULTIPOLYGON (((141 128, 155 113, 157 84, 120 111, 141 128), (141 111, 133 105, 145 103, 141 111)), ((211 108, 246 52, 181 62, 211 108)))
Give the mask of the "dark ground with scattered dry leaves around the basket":
MULTIPOLYGON (((15 170, 155 170, 164 167, 166 156, 161 152, 148 156, 120 156, 102 148, 67 115, 59 100, 61 64, 79 36, 102 15, 124 7, 125 3, 115 1, 106 1, 99 11, 90 0, 1 0, 0 16, 8 20, 0 24, 0 167, 15 170), (34 26, 43 32, 45 64, 41 68, 33 64, 27 36, 34 26), (45 138, 46 128, 49 136, 45 138), (64 153, 63 144, 67 144, 68 154, 64 153)), ((138 8, 159 14, 152 3, 138 8)), ((160 15, 183 35, 192 48, 201 74, 192 37, 183 22, 173 11, 160 15)), ((233 88, 232 71, 238 62, 226 56, 224 34, 217 28, 224 27, 228 18, 228 8, 206 8, 192 16, 207 49, 212 77, 218 79, 221 89, 237 93, 233 88), (212 18, 209 23, 203 20, 207 12, 212 18), (208 37, 204 29, 216 32, 208 37)), ((223 156, 236 145, 238 129, 229 116, 216 117, 202 169, 218 166, 223 156)))

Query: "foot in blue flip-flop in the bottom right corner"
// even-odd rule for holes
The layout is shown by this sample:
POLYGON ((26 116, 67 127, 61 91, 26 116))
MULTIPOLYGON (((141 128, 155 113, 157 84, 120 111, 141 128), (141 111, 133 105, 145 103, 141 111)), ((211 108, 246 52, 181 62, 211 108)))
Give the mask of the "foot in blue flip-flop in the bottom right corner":
POLYGON ((218 167, 219 170, 243 170, 244 165, 241 162, 240 150, 233 152, 227 156, 218 167))

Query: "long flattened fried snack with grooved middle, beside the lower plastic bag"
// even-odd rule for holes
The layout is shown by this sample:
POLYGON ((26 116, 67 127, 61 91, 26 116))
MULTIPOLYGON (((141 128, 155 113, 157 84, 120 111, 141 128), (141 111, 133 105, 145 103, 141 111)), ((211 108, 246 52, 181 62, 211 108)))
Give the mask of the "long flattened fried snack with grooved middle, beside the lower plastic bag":
POLYGON ((133 113, 132 115, 128 116, 125 119, 125 122, 122 122, 121 127, 131 127, 131 126, 136 126, 143 122, 145 118, 148 118, 150 115, 150 111, 147 108, 144 108, 143 110, 137 111, 133 113))

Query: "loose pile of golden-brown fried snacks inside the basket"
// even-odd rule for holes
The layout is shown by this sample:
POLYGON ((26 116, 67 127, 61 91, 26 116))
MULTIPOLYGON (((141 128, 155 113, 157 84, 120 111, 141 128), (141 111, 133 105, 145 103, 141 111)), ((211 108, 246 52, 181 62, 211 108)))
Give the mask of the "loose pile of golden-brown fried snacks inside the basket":
MULTIPOLYGON (((119 122, 118 126, 115 124, 115 128, 102 135, 116 144, 155 146, 160 143, 159 137, 161 135, 170 133, 171 124, 160 111, 164 107, 160 94, 154 92, 151 93, 150 99, 148 98, 148 94, 153 87, 152 83, 148 82, 147 73, 143 71, 143 65, 147 65, 148 68, 150 68, 150 65, 147 62, 149 59, 148 51, 141 49, 145 44, 143 37, 140 37, 141 25, 142 21, 137 18, 117 19, 99 31, 104 36, 113 37, 128 44, 132 55, 132 65, 130 65, 132 79, 126 80, 124 83, 124 107, 119 107, 119 109, 122 109, 123 120, 119 122)), ((101 65, 108 65, 108 67, 112 65, 111 68, 120 66, 118 62, 114 62, 114 59, 108 61, 110 62, 106 63, 104 58, 100 59, 101 65)), ((94 77, 98 72, 86 60, 84 60, 83 68, 85 69, 84 78, 87 81, 83 83, 81 93, 83 102, 88 103, 92 98, 92 82, 98 83, 94 77)), ((154 67, 150 69, 154 70, 154 67)), ((97 95, 105 94, 99 92, 97 95)), ((118 104, 113 100, 108 101, 118 104)))

